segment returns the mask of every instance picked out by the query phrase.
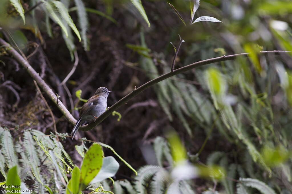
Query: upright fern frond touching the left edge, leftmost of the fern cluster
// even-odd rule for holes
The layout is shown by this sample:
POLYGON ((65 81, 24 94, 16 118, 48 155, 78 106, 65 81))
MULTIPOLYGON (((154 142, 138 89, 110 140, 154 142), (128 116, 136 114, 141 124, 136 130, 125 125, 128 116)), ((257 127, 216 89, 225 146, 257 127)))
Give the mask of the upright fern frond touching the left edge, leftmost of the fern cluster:
POLYGON ((4 129, 0 141, 2 154, 5 157, 8 168, 12 168, 15 165, 18 166, 18 157, 15 154, 12 136, 8 129, 4 129))

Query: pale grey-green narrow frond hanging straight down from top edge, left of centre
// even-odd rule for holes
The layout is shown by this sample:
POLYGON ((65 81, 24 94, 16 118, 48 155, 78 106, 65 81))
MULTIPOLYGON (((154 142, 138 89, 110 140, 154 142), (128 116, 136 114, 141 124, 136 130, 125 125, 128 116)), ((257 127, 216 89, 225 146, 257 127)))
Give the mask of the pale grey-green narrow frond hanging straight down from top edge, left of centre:
POLYGON ((77 14, 78 14, 78 25, 81 28, 81 37, 82 37, 82 43, 84 50, 89 50, 88 45, 88 38, 86 36, 86 31, 88 29, 88 17, 85 10, 85 6, 82 1, 80 0, 74 0, 75 5, 77 6, 77 14))

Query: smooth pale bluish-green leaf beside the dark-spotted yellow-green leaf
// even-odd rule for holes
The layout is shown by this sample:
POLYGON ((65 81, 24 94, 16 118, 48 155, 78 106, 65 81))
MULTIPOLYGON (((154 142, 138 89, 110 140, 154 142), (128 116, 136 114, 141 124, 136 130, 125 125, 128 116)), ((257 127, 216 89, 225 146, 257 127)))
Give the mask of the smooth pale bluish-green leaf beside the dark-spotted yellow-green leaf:
POLYGON ((117 171, 119 170, 119 163, 114 159, 112 156, 107 156, 102 160, 102 166, 98 174, 94 177, 91 181, 92 183, 103 181, 108 177, 113 177, 116 175, 117 171))

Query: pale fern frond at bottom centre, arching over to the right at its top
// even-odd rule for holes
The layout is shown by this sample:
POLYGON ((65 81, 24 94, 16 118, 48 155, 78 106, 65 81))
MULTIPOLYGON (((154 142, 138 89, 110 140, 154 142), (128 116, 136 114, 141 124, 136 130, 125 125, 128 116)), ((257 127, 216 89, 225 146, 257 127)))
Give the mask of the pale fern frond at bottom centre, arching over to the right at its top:
POLYGON ((153 175, 161 169, 159 166, 145 165, 139 168, 138 176, 135 177, 135 189, 138 193, 146 193, 146 186, 153 175))

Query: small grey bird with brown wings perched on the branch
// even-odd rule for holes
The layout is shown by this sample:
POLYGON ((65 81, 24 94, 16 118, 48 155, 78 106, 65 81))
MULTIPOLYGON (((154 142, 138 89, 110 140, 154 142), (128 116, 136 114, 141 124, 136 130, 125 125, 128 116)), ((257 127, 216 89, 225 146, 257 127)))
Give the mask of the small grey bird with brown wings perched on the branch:
POLYGON ((79 113, 79 118, 71 132, 72 139, 80 126, 95 121, 102 113, 105 112, 109 92, 111 91, 107 88, 100 87, 96 90, 94 95, 83 104, 79 113))

